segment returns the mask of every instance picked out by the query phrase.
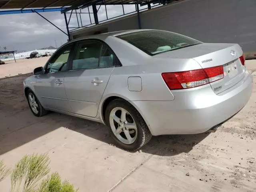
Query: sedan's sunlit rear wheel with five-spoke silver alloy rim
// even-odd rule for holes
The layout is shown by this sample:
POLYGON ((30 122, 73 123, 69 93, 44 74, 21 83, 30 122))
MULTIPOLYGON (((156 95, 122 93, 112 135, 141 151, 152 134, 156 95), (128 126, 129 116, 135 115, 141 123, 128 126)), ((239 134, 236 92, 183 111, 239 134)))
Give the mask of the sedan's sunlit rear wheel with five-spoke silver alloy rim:
POLYGON ((137 150, 152 138, 144 119, 129 102, 113 100, 106 108, 105 117, 110 135, 126 150, 137 150))

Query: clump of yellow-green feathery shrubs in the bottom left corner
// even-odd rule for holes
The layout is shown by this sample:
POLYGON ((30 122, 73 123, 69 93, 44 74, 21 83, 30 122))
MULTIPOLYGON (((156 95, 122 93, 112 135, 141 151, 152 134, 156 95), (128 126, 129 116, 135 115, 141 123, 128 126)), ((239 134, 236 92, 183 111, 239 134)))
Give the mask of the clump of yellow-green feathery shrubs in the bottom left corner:
MULTIPOLYGON (((46 154, 25 155, 11 174, 11 192, 77 192, 67 180, 61 182, 60 175, 55 172, 43 179, 38 189, 38 182, 50 172, 50 158, 46 154)), ((0 161, 0 182, 11 173, 10 169, 0 161)))

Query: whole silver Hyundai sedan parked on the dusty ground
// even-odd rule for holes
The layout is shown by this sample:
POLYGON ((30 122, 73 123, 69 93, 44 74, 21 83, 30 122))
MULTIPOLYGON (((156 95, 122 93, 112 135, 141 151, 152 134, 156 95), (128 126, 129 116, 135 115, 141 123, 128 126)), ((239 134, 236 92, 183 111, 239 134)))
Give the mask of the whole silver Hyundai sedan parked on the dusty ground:
POLYGON ((238 44, 202 43, 162 30, 78 38, 24 80, 35 116, 51 110, 101 122, 127 150, 152 135, 215 131, 251 92, 238 44))

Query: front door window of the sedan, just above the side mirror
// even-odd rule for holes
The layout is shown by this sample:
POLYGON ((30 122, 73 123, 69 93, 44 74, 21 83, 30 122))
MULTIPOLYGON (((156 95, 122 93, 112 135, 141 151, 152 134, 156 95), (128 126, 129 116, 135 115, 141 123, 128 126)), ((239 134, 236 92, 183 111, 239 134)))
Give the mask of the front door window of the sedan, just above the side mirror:
POLYGON ((68 70, 68 56, 72 45, 66 46, 58 51, 58 53, 48 62, 46 72, 59 72, 68 70))

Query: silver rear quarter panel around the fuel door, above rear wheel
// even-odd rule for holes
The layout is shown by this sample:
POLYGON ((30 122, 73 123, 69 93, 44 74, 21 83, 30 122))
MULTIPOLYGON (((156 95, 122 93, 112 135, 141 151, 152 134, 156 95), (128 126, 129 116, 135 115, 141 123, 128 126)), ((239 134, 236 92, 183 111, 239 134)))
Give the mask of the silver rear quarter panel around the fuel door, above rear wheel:
POLYGON ((128 101, 174 100, 173 94, 162 79, 162 72, 201 69, 193 59, 161 58, 160 54, 150 56, 132 44, 113 36, 102 40, 112 48, 122 63, 121 67, 113 70, 102 100, 110 96, 120 96, 128 101), (141 78, 141 91, 129 91, 129 77, 141 78))

